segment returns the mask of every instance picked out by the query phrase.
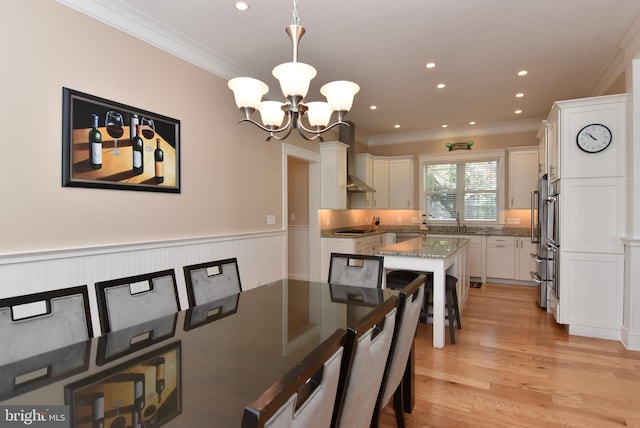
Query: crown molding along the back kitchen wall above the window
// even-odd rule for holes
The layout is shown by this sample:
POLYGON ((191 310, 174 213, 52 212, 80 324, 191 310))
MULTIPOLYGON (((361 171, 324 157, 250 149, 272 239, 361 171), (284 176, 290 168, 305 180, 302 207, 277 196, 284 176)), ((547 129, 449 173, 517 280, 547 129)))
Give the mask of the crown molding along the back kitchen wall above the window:
POLYGON ((520 120, 513 122, 490 123, 487 125, 466 126, 464 128, 446 128, 430 131, 406 132, 403 134, 375 135, 367 140, 368 146, 388 144, 419 143, 445 138, 466 138, 484 135, 515 134, 519 132, 537 132, 545 118, 520 120))

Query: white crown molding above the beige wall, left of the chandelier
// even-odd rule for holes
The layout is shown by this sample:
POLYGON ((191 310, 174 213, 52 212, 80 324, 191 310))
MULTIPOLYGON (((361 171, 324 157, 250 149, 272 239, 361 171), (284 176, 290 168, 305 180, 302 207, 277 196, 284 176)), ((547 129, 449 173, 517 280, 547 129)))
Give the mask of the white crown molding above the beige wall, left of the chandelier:
POLYGON ((223 79, 251 76, 248 70, 207 49, 195 40, 141 14, 123 0, 57 0, 104 24, 127 33, 223 79))

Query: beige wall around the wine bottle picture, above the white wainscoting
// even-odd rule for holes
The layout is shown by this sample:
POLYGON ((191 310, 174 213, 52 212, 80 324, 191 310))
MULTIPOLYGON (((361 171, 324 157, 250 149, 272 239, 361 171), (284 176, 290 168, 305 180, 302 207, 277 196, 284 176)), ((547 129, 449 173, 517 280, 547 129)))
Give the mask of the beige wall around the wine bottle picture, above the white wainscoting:
POLYGON ((280 143, 225 80, 53 0, 1 2, 0 37, 0 255, 282 228, 280 143), (179 119, 182 193, 62 187, 62 87, 179 119))

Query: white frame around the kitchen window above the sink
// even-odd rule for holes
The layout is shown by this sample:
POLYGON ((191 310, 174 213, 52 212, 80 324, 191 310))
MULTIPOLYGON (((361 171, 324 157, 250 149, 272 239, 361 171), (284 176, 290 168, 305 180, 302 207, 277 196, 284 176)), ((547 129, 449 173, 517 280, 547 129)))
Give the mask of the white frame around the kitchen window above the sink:
MULTIPOLYGON (((505 150, 497 149, 497 150, 480 150, 475 152, 463 152, 463 153, 437 153, 437 154, 424 154, 420 155, 418 158, 418 166, 420 168, 420 183, 419 183, 419 200, 420 200, 420 213, 426 214, 425 206, 424 206, 424 173, 425 166, 427 164, 438 164, 438 163, 460 163, 460 162, 482 162, 487 160, 495 160, 498 159, 498 188, 497 188, 497 219, 495 221, 473 221, 474 225, 483 226, 483 225, 504 225, 505 212, 504 212, 504 201, 505 201, 505 150)), ((460 222, 463 220, 461 219, 460 222)), ((448 226, 455 225, 455 220, 429 220, 429 223, 432 225, 440 225, 440 226, 448 226)))

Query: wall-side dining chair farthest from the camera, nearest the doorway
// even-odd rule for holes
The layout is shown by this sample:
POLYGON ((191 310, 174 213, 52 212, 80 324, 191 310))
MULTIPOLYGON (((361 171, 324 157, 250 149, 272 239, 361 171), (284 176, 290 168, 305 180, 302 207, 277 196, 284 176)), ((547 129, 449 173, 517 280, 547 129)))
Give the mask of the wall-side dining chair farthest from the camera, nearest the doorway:
POLYGON ((190 308, 242 291, 235 257, 184 266, 183 270, 190 308))

